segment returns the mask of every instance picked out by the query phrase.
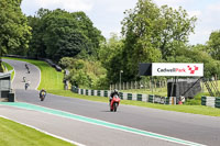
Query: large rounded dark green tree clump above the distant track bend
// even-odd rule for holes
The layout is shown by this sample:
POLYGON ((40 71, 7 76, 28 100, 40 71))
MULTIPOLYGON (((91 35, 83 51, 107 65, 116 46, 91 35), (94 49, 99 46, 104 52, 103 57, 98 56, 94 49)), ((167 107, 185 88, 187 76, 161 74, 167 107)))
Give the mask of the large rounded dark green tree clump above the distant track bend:
POLYGON ((29 24, 33 27, 29 55, 55 61, 63 57, 97 57, 103 40, 84 12, 40 9, 36 16, 29 16, 29 24))

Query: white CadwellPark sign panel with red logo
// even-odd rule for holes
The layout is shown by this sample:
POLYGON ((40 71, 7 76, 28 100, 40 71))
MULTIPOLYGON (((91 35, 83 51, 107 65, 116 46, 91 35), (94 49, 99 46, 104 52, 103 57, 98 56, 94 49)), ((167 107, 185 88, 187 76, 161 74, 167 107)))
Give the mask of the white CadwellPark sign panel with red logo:
POLYGON ((202 77, 204 64, 152 63, 152 76, 202 77))

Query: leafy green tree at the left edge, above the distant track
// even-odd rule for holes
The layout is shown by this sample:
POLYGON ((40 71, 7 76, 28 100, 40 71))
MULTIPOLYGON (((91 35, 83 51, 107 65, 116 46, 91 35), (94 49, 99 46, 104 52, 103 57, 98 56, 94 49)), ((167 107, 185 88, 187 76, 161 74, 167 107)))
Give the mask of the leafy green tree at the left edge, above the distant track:
POLYGON ((31 27, 21 11, 21 0, 0 0, 0 55, 26 52, 31 27))

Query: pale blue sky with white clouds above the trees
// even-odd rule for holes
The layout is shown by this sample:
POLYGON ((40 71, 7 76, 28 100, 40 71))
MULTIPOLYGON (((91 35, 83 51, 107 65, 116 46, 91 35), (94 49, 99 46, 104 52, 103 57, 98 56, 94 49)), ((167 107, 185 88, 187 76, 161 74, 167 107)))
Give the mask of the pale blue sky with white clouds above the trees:
MULTIPOLYGON (((107 38, 111 33, 120 35, 121 21, 124 11, 133 9, 138 0, 23 0, 22 12, 34 15, 40 8, 55 10, 57 8, 68 12, 84 11, 94 25, 107 38)), ((213 31, 220 30, 220 0, 153 0, 158 7, 167 4, 178 9, 182 7, 187 13, 197 16, 195 34, 190 34, 189 44, 206 44, 213 31)))

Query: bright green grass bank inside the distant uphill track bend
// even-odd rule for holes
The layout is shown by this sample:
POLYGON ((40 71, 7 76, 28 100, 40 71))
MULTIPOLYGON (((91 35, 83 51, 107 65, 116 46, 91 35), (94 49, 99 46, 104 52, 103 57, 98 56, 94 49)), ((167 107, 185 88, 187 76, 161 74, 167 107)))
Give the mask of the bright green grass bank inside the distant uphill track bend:
POLYGON ((55 68, 51 67, 47 63, 42 60, 32 60, 32 59, 21 59, 21 58, 10 58, 10 57, 4 57, 4 58, 28 61, 30 64, 37 66, 41 70, 41 83, 38 90, 41 90, 42 88, 46 90, 64 89, 64 83, 63 83, 64 74, 56 71, 55 68))

